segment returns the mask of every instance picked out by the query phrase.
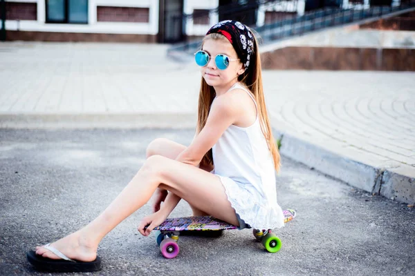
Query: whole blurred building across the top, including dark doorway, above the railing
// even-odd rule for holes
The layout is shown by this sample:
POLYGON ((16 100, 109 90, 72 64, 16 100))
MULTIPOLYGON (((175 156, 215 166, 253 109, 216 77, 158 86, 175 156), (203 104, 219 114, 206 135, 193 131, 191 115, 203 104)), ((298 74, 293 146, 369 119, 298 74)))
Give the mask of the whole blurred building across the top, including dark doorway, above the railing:
POLYGON ((1 0, 0 14, 6 40, 174 43, 223 19, 263 26, 324 6, 359 5, 369 0, 1 0))

